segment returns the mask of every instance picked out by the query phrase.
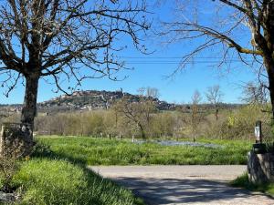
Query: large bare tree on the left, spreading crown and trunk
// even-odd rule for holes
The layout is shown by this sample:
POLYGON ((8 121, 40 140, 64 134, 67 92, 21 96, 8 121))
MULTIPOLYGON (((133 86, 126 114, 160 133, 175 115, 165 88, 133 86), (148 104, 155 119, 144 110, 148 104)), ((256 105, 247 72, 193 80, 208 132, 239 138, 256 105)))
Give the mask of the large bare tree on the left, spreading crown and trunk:
POLYGON ((123 41, 145 52, 140 38, 150 27, 144 1, 8 0, 0 3, 0 69, 6 96, 24 83, 22 123, 33 127, 39 79, 65 93, 64 81, 109 77, 126 68, 123 41))

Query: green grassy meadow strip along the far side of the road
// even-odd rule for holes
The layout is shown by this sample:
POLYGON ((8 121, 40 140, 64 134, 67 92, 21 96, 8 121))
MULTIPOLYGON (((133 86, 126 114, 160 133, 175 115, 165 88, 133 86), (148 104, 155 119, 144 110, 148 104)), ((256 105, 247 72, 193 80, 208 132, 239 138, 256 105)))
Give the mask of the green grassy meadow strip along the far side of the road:
POLYGON ((49 145, 59 156, 89 165, 246 164, 251 148, 250 142, 239 140, 211 140, 224 146, 217 149, 153 143, 138 145, 126 140, 85 137, 39 137, 37 140, 49 145))

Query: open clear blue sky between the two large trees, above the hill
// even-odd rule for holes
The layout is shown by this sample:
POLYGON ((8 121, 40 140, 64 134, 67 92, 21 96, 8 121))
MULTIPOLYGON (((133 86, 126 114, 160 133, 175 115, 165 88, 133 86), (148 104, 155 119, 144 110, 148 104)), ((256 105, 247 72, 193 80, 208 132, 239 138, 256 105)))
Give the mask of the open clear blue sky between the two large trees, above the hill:
MULTIPOLYGON (((164 19, 171 19, 172 13, 170 7, 171 5, 166 3, 162 7, 156 8, 153 16, 154 21, 163 16, 164 19)), ((175 43, 170 46, 163 46, 161 42, 162 39, 154 37, 146 39, 145 44, 154 51, 152 55, 142 55, 132 47, 119 53, 120 56, 124 56, 122 59, 125 60, 128 67, 134 67, 134 70, 120 72, 120 77, 128 76, 123 81, 115 82, 106 78, 89 79, 83 82, 80 89, 118 90, 122 87, 125 92, 134 94, 137 93, 136 90, 139 87, 156 87, 160 91, 160 98, 162 100, 188 103, 195 90, 200 91, 205 102, 204 94, 206 88, 219 85, 224 93, 224 102, 238 103, 238 98, 241 95, 240 85, 257 77, 250 68, 236 63, 229 70, 222 67, 212 67, 212 64, 208 63, 197 63, 189 65, 189 67, 173 78, 166 78, 166 76, 170 75, 178 67, 178 64, 175 63, 179 62, 179 57, 187 53, 193 45, 175 43), (133 63, 136 61, 138 63, 133 63), (172 61, 174 64, 168 64, 168 61, 172 61)), ((129 44, 127 39, 123 39, 120 43, 129 44)), ((40 80, 38 102, 59 96, 60 93, 56 94, 51 91, 53 88, 43 80, 40 80)), ((4 89, 2 88, 0 91, 4 92, 4 89)), ((5 96, 0 97, 0 104, 22 103, 23 98, 24 87, 18 84, 8 98, 5 96)))

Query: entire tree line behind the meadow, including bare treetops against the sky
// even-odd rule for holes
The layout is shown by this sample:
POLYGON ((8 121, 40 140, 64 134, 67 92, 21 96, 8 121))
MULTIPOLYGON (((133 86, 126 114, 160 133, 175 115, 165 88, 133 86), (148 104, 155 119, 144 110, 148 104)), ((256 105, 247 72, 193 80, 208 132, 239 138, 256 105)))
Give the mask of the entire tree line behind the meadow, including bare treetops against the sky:
MULTIPOLYGON (((219 86, 207 87, 205 102, 195 91, 187 110, 159 110, 154 97, 159 91, 153 87, 138 90, 139 100, 125 96, 110 109, 40 113, 35 121, 39 135, 90 136, 98 138, 253 138, 254 123, 263 121, 265 136, 271 134, 270 106, 262 101, 248 84, 243 97, 248 104, 238 108, 221 105, 222 92, 219 86)), ((19 115, 4 116, 2 121, 20 121, 19 115)))

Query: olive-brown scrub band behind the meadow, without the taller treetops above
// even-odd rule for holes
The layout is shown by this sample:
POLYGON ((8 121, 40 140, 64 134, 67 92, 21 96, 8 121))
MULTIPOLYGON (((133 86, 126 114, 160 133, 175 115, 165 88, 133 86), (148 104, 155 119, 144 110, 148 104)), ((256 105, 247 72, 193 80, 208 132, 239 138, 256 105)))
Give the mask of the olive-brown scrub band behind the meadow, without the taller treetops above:
POLYGON ((261 105, 222 109, 217 121, 214 109, 199 112, 198 105, 193 108, 190 113, 157 111, 150 102, 127 105, 124 99, 109 110, 40 115, 36 119, 36 131, 39 135, 97 138, 252 139, 254 122, 260 119, 264 135, 270 136, 269 113, 261 112, 261 105))

